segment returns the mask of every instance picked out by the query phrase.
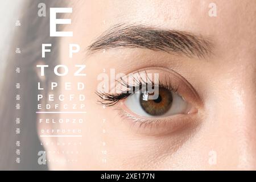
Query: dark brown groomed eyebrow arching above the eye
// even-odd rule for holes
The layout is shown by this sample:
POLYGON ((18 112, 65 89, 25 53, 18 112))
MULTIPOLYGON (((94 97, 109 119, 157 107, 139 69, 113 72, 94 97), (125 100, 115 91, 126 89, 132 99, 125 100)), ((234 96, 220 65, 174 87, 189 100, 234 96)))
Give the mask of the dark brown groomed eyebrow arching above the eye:
POLYGON ((163 30, 144 25, 117 24, 99 36, 87 48, 89 54, 112 48, 146 48, 204 58, 212 54, 209 38, 190 32, 163 30))

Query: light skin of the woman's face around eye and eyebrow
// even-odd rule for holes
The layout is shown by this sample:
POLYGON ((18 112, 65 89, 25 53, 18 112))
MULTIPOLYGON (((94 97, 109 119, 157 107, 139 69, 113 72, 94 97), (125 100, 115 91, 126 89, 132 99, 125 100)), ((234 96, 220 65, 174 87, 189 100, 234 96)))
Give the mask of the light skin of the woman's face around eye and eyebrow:
MULTIPOLYGON (((39 134, 41 129, 54 127, 82 130, 81 138, 40 138, 47 152, 79 151, 73 155, 47 153, 52 161, 48 163, 50 169, 256 169, 256 3, 216 0, 217 16, 210 17, 210 2, 80 1, 70 5, 73 13, 68 17, 72 24, 66 28, 73 31, 73 37, 61 38, 60 44, 61 64, 68 66, 69 74, 61 77, 61 83, 85 82, 86 90, 81 92, 74 87, 71 92, 61 86, 60 89, 63 94, 85 94, 87 113, 59 115, 83 118, 82 125, 38 125, 39 134), (213 55, 199 59, 140 48, 108 49, 87 55, 86 47, 118 23, 147 24, 207 36, 214 44, 213 55), (73 59, 68 58, 69 43, 80 45, 81 51, 73 59), (73 76, 75 64, 86 64, 86 77, 73 76), (97 104, 94 92, 100 82, 97 76, 103 69, 107 74, 111 68, 125 74, 142 68, 162 73, 156 67, 179 73, 199 94, 200 101, 189 97, 188 89, 182 93, 197 110, 187 123, 178 123, 175 130, 170 126, 168 133, 163 134, 161 128, 148 133, 146 127, 140 128, 132 125, 130 119, 122 118, 114 109, 116 106, 103 109, 97 104), (106 133, 102 133, 103 129, 106 133), (82 143, 67 144, 77 141, 82 143), (107 154, 103 155, 102 150, 107 154), (214 156, 216 163, 212 164, 209 161, 214 156), (53 162, 56 159, 77 162, 53 162)), ((122 103, 119 107, 127 110, 122 103)), ((39 115, 53 117, 56 115, 39 115)))

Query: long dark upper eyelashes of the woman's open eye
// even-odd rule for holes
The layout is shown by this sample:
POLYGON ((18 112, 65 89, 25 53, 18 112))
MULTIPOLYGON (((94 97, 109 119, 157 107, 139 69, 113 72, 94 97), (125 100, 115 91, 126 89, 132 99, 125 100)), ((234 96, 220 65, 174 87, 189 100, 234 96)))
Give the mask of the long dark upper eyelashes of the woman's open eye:
MULTIPOLYGON (((146 73, 146 71, 145 71, 145 73, 146 73)), ((146 76, 147 76, 147 73, 146 73, 146 76)), ((124 100, 125 98, 131 96, 132 94, 134 94, 138 90, 141 90, 143 88, 143 86, 145 86, 145 85, 147 86, 147 84, 155 85, 154 82, 151 81, 150 79, 149 79, 150 82, 144 81, 143 78, 140 75, 137 78, 133 76, 133 80, 135 81, 135 84, 137 84, 137 86, 129 84, 128 82, 126 82, 122 78, 121 78, 121 81, 118 81, 119 84, 121 84, 123 86, 126 86, 127 89, 129 89, 129 90, 132 89, 133 90, 132 93, 129 93, 128 92, 129 90, 126 90, 125 92, 122 92, 122 93, 113 93, 113 94, 97 91, 96 94, 97 94, 98 97, 100 97, 100 100, 98 100, 98 102, 102 105, 105 105, 105 106, 113 106, 113 105, 117 104, 120 100, 124 100)), ((180 94, 179 94, 179 85, 177 85, 177 86, 172 85, 171 81, 167 81, 167 78, 164 82, 160 82, 160 80, 159 80, 158 87, 168 89, 168 90, 170 90, 170 91, 172 91, 172 92, 174 92, 174 93, 176 93, 180 96, 180 94)))

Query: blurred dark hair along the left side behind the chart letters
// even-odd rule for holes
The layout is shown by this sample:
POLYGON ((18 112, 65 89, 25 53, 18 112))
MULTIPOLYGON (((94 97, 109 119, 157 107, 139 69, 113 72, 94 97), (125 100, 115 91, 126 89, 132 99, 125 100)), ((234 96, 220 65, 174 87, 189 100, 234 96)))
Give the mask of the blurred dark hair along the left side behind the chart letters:
MULTIPOLYGON (((36 129, 36 106, 37 106, 37 82, 39 77, 36 73, 36 63, 42 60, 49 67, 59 63, 58 43, 60 38, 49 36, 49 7, 65 7, 67 2, 55 1, 26 1, 22 16, 19 19, 21 26, 15 27, 15 34, 10 45, 9 57, 5 78, 1 86, 0 102, 0 169, 2 170, 42 170, 47 165, 38 164, 38 151, 44 150, 40 144, 36 129), (38 16, 38 4, 46 3, 46 17, 38 16), (51 53, 42 59, 42 43, 51 43, 51 53), (15 53, 16 47, 21 50, 20 54, 15 53), (15 68, 20 68, 20 73, 15 73, 15 68), (20 89, 16 89, 16 83, 20 83, 20 89), (16 100, 16 94, 20 100, 16 100), (16 103, 20 109, 15 109, 16 103), (20 123, 16 124, 16 118, 20 123), (20 134, 15 134, 16 128, 20 128, 20 134), (16 146, 20 141, 20 147, 16 146), (17 155, 16 148, 20 149, 17 155), (15 159, 20 157, 20 163, 15 159)), ((56 79, 46 70, 47 82, 56 79)), ((56 80, 54 80, 56 81, 56 80)))

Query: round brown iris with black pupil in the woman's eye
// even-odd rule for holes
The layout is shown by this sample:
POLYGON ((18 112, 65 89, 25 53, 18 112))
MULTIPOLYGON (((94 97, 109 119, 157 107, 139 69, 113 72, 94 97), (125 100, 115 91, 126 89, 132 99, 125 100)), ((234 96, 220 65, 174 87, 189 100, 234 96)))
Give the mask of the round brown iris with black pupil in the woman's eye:
POLYGON ((163 115, 172 105, 172 93, 169 89, 159 88, 158 98, 155 100, 143 100, 143 93, 139 97, 142 109, 150 115, 163 115))

